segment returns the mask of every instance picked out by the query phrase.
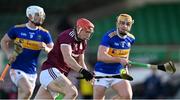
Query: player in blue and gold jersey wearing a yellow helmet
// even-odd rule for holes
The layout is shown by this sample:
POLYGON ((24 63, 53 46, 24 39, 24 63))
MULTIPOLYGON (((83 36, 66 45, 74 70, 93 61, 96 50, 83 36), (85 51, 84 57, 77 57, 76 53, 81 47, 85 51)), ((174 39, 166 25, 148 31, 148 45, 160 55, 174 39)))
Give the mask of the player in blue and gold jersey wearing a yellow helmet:
MULTIPOLYGON (((134 20, 128 14, 120 14, 117 18, 116 29, 109 30, 103 36, 99 45, 95 75, 107 76, 120 74, 120 70, 128 64, 131 45, 134 36, 129 33, 134 20)), ((126 68, 127 70, 127 68, 126 68)), ((128 70, 127 70, 128 73, 128 70)), ((94 83, 94 99, 104 99, 105 90, 111 87, 118 95, 112 99, 131 99, 130 82, 123 79, 102 78, 94 83)))

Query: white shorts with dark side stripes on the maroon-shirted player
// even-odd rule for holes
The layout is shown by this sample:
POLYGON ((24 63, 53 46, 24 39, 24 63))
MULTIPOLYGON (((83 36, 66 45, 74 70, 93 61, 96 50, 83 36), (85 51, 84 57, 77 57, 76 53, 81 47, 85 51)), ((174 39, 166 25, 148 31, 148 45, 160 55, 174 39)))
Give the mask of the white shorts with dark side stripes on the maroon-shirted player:
MULTIPOLYGON (((61 77, 63 74, 57 68, 49 68, 41 71, 39 80, 43 88, 47 89, 47 86, 50 82, 55 80, 58 77, 61 77)), ((58 93, 52 90, 48 90, 50 94, 55 98, 58 93)))

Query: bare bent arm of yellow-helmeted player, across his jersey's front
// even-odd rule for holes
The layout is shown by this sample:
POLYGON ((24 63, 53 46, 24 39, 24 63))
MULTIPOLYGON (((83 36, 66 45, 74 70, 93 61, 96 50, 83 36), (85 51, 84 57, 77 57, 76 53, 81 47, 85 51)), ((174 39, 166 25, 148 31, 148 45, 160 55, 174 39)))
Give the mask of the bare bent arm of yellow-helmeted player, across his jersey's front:
POLYGON ((122 63, 123 65, 128 64, 128 60, 120 57, 112 57, 108 54, 109 48, 103 45, 100 45, 98 48, 97 60, 106 62, 106 63, 122 63))

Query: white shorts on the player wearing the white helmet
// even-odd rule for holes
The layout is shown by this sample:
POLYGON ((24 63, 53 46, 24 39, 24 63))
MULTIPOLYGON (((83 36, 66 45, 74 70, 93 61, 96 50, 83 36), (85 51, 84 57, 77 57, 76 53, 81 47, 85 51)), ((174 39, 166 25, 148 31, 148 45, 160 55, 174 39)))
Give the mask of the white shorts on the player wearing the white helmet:
POLYGON ((18 82, 21 78, 25 78, 29 80, 31 87, 34 88, 36 84, 37 74, 27 74, 22 70, 10 69, 10 77, 11 77, 12 82, 16 86, 18 86, 18 82))

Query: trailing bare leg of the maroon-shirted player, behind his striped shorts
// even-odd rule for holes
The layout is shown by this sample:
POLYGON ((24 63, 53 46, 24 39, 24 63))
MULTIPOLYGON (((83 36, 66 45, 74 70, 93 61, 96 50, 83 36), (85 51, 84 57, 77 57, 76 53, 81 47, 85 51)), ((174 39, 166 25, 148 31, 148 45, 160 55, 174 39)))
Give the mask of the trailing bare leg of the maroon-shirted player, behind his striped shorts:
POLYGON ((44 87, 40 86, 36 96, 34 97, 34 99, 53 99, 53 97, 51 96, 51 94, 49 93, 49 91, 47 89, 45 89, 44 87))

